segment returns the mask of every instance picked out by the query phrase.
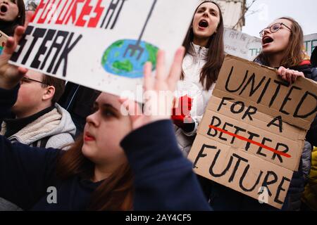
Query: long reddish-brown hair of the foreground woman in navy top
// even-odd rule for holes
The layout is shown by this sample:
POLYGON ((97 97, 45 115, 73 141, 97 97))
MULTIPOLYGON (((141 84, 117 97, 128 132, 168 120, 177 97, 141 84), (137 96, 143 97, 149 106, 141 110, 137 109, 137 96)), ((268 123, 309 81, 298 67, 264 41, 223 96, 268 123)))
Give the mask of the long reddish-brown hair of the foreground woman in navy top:
MULTIPOLYGON (((82 145, 80 136, 59 158, 56 173, 62 181, 77 175, 91 179, 94 175, 94 163, 82 154, 82 145)), ((126 162, 94 190, 87 210, 132 210, 132 184, 132 172, 126 162)))

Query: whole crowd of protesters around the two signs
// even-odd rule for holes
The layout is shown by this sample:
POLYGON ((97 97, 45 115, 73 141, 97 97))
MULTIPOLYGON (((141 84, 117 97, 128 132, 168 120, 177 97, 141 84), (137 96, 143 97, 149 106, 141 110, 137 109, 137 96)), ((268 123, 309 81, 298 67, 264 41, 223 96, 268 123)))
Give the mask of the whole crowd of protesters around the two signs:
MULTIPOLYGON (((197 176, 186 159, 225 58, 218 4, 197 6, 168 74, 163 51, 155 79, 151 63, 144 65, 145 91, 175 93, 163 102, 145 99, 144 105, 167 104, 171 117, 10 65, 32 13, 25 12, 23 0, 0 0, 0 8, 0 30, 11 36, 0 56, 0 210, 277 210, 197 176), (51 186, 56 204, 47 201, 51 186)), ((311 61, 305 59, 297 21, 278 18, 260 36, 256 63, 276 68, 290 83, 298 77, 317 81, 316 51, 311 61)), ((317 118, 282 210, 317 210, 313 146, 317 118)))

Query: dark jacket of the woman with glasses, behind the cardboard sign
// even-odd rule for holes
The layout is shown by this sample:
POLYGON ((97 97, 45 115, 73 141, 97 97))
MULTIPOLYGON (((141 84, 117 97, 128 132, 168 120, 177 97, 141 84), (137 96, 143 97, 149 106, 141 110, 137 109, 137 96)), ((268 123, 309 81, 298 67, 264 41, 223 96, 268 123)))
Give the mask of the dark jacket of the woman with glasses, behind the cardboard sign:
MULTIPOLYGON (((256 63, 263 64, 259 62, 259 60, 256 60, 256 63)), ((313 68, 310 64, 299 65, 296 68, 290 69, 304 72, 305 77, 317 80, 317 69, 313 68)), ((315 120, 311 124, 311 129, 309 129, 309 133, 306 136, 306 140, 311 143, 316 143, 317 141, 316 122, 317 120, 315 118, 315 120), (315 136, 314 139, 313 136, 315 136)), ((306 155, 309 155, 308 153, 311 153, 311 145, 305 145, 303 153, 304 155, 302 155, 302 157, 306 157, 306 155)), ((303 161, 307 162, 307 160, 301 159, 299 164, 299 171, 293 173, 290 188, 287 191, 282 210, 300 210, 301 196, 302 193, 304 193, 304 186, 306 184, 304 172, 307 171, 307 167, 310 167, 310 165, 307 165, 305 163, 303 169, 303 161)), ((223 185, 216 184, 213 181, 207 181, 205 178, 200 176, 199 182, 201 183, 201 187, 203 188, 206 198, 209 200, 209 203, 213 210, 278 210, 274 207, 271 207, 270 205, 260 204, 258 200, 227 188, 223 185)))

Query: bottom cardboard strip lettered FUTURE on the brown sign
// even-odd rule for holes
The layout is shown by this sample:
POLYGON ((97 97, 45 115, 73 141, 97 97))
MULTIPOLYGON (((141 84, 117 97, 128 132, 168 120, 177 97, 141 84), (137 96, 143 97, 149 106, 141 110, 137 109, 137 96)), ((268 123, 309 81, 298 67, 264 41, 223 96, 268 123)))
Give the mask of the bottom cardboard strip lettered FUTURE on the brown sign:
POLYGON ((265 162, 254 155, 237 151, 235 148, 206 139, 200 135, 195 139, 194 146, 194 151, 197 151, 197 153, 192 160, 193 162, 197 160, 196 167, 194 167, 197 174, 255 199, 260 197, 259 190, 263 186, 264 180, 267 180, 267 183, 271 181, 273 184, 269 184, 267 187, 268 191, 271 192, 271 196, 268 196, 268 204, 277 208, 282 207, 292 179, 293 173, 290 169, 279 167, 271 162, 265 162), (216 148, 211 148, 213 146, 216 146, 216 148), (220 152, 218 153, 219 150, 220 152), (206 156, 199 157, 200 151, 206 156), (217 153, 218 158, 216 158, 217 153), (232 162, 230 164, 231 158, 232 162), (240 163, 238 164, 237 162, 240 163), (229 164, 230 166, 228 167, 229 164), (235 167, 237 167, 236 170, 235 167), (210 172, 211 168, 213 176, 210 172))

